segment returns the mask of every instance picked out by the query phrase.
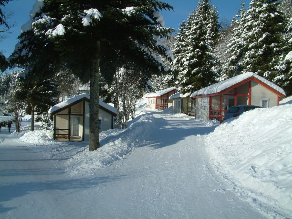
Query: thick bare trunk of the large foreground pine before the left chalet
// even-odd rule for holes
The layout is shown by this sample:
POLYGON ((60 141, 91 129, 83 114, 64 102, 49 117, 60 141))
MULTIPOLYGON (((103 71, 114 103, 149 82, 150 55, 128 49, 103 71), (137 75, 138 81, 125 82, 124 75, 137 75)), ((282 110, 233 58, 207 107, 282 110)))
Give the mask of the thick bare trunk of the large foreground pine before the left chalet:
POLYGON ((89 101, 89 150, 99 148, 98 109, 99 109, 99 62, 100 41, 97 41, 95 57, 92 60, 90 73, 90 101, 89 101))

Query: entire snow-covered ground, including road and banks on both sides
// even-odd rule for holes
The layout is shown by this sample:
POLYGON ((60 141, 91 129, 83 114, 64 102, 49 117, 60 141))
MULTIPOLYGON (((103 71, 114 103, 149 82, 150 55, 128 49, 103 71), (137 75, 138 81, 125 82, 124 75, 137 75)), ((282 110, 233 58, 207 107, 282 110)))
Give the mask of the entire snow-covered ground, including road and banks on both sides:
POLYGON ((95 152, 4 128, 0 218, 291 218, 289 101, 219 125, 144 99, 95 152))

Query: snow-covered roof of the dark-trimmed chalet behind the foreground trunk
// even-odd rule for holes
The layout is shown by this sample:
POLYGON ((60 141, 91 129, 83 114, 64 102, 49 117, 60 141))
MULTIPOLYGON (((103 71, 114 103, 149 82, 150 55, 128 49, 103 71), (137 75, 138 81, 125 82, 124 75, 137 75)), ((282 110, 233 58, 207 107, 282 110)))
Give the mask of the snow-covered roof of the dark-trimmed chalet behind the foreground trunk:
MULTIPOLYGON (((48 113, 49 114, 53 114, 54 112, 56 111, 60 111, 64 108, 66 108, 67 106, 71 105, 71 104, 74 104, 75 102, 78 102, 79 100, 81 99, 87 99, 89 101, 90 99, 90 95, 89 94, 86 94, 86 93, 83 93, 83 94, 79 94, 79 95, 76 95, 75 97, 71 97, 67 100, 64 100, 62 101, 61 103, 58 103, 56 104, 55 106, 52 106, 48 113)), ((113 107, 113 106, 110 106, 109 104, 106 104, 105 102, 103 101, 99 101, 99 106, 107 109, 108 111, 114 113, 114 114, 118 114, 117 112, 117 108, 113 107)))

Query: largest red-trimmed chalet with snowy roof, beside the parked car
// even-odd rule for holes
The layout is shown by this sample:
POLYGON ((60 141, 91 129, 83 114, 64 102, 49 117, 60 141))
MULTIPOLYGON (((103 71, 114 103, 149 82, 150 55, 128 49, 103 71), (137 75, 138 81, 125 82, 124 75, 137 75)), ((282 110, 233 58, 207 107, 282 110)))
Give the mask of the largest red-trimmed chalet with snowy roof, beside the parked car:
POLYGON ((253 72, 234 76, 191 94, 196 99, 196 118, 218 119, 220 122, 230 106, 273 107, 278 106, 280 97, 284 96, 281 87, 253 72))

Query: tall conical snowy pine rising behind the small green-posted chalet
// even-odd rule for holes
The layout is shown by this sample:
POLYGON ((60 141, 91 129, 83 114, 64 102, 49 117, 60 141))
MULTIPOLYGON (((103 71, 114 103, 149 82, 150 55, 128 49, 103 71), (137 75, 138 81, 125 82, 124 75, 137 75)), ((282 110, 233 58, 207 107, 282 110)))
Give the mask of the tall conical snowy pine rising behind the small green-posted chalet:
POLYGON ((213 68, 216 65, 216 58, 213 48, 208 44, 216 41, 212 39, 210 27, 213 24, 209 24, 208 18, 212 10, 214 7, 210 1, 199 1, 197 10, 194 10, 191 22, 188 23, 187 51, 182 60, 183 71, 178 73, 178 90, 182 93, 194 92, 216 82, 217 74, 213 68))

